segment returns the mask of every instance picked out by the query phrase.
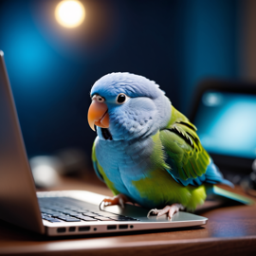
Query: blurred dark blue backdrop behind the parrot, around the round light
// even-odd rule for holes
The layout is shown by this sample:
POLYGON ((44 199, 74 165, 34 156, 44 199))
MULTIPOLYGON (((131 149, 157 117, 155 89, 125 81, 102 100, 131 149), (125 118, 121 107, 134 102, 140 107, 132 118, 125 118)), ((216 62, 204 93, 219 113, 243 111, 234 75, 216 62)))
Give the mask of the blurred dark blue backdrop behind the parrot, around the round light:
POLYGON ((90 155, 89 91, 106 73, 154 80, 184 114, 200 80, 240 76, 241 1, 81 1, 86 17, 74 29, 57 24, 58 2, 0 2, 0 48, 29 156, 90 155))

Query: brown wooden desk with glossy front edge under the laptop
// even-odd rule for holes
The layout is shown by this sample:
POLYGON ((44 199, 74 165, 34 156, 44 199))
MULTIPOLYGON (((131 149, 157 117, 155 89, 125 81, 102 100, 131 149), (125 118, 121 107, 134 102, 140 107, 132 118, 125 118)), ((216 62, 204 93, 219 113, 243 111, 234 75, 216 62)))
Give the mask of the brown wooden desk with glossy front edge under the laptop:
MULTIPOLYGON (((111 195, 94 174, 63 178, 55 190, 88 190, 111 195)), ((243 193, 239 188, 235 192, 243 193)), ((256 204, 196 213, 209 218, 194 229, 47 238, 0 221, 0 255, 256 255, 256 204)))

